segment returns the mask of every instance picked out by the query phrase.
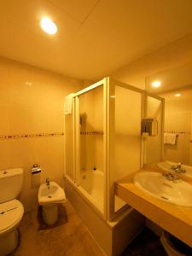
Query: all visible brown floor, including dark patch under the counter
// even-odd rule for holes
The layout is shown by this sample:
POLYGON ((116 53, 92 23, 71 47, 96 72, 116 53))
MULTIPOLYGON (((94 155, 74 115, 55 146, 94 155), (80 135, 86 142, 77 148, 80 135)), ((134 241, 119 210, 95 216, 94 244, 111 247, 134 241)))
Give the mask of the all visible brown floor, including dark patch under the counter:
MULTIPOLYGON (((26 212, 20 223, 20 245, 11 256, 103 256, 78 214, 67 201, 58 224, 49 228, 41 212, 26 212)), ((160 239, 148 229, 121 256, 166 256, 160 239)))

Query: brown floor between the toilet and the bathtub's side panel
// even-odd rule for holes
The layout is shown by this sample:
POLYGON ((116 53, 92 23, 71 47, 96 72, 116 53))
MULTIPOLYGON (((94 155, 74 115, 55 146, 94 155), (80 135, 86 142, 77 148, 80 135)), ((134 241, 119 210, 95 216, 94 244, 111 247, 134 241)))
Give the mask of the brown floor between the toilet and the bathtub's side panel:
POLYGON ((46 229, 38 211, 26 212, 20 223, 20 245, 14 256, 103 256, 101 249, 69 202, 64 222, 46 229))

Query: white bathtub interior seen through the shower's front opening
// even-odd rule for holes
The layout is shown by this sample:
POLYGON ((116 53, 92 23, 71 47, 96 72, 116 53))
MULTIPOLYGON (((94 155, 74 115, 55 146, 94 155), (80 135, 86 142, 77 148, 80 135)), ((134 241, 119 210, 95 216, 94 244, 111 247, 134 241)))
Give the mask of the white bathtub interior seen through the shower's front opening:
POLYGON ((104 176, 99 170, 90 170, 81 173, 80 187, 84 189, 91 201, 103 212, 104 204, 104 176))

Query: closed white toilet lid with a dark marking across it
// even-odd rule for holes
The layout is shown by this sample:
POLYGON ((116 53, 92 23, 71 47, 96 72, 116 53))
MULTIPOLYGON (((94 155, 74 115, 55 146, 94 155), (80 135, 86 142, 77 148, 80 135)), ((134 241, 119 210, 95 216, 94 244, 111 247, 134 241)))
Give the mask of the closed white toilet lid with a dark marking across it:
POLYGON ((20 222, 24 208, 20 201, 14 199, 0 204, 0 234, 10 230, 20 222))

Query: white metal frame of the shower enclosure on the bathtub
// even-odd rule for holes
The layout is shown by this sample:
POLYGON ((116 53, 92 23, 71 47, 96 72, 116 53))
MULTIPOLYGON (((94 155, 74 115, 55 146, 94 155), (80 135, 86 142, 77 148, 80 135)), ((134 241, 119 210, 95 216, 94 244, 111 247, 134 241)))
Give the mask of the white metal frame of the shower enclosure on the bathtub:
MULTIPOLYGON (((84 200, 93 207, 94 210, 105 220, 111 221, 113 218, 125 212, 129 206, 121 207, 118 212, 114 212, 114 183, 115 183, 115 85, 124 87, 125 89, 135 91, 141 94, 141 120, 147 113, 147 96, 152 96, 162 102, 162 114, 164 109, 164 101, 160 96, 148 93, 146 90, 139 89, 130 84, 119 82, 110 77, 104 78, 96 84, 80 90, 73 94, 73 178, 66 173, 67 180, 77 189, 84 197, 84 200), (80 147, 79 147, 79 96, 90 90, 94 90, 99 86, 103 86, 103 212, 91 201, 86 195, 84 189, 80 187, 80 147)), ((162 126, 164 123, 162 116, 162 126)), ((162 130, 163 131, 163 130, 162 130)), ((163 139, 163 138, 162 138, 163 139)), ((66 148, 65 148, 66 150, 66 148)), ((143 166, 143 140, 140 142, 140 167, 143 166)), ((90 196, 91 197, 91 196, 90 196)))

